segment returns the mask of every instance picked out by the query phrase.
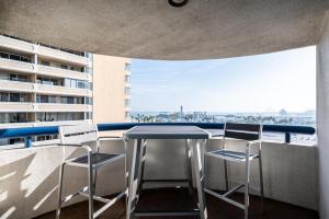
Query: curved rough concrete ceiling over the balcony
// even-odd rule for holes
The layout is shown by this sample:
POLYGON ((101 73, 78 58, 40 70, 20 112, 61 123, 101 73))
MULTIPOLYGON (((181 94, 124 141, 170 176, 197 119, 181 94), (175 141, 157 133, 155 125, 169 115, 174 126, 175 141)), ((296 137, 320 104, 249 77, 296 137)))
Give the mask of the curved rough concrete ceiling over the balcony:
POLYGON ((314 45, 327 0, 4 0, 0 33, 147 59, 211 59, 314 45))

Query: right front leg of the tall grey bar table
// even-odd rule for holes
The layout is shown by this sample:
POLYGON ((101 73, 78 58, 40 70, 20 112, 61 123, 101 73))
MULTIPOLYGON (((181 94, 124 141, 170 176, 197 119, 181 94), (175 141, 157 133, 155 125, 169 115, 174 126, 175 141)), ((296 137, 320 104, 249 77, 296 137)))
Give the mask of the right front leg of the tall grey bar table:
POLYGON ((195 172, 195 181, 197 188, 197 198, 198 198, 198 209, 200 209, 200 218, 207 219, 207 209, 205 207, 205 198, 204 198, 204 170, 203 170, 203 161, 202 161, 202 151, 201 147, 204 147, 204 140, 190 140, 193 149, 193 159, 194 159, 194 172, 195 172))

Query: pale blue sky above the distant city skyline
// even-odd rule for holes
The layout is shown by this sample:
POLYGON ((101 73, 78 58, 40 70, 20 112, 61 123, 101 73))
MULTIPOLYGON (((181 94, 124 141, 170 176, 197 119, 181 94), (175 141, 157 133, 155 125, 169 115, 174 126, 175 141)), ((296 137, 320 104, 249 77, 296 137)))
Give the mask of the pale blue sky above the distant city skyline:
POLYGON ((133 59, 133 112, 315 110, 316 47, 226 59, 133 59))

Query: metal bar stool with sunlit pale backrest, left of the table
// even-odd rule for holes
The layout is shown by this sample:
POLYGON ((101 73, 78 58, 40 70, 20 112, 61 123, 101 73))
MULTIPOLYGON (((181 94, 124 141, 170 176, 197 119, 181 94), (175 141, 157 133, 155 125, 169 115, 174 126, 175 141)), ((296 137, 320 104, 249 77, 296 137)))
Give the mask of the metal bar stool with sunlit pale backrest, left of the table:
MULTIPOLYGON (((77 195, 88 197, 89 199, 89 219, 99 217, 104 210, 110 208, 114 203, 127 194, 127 188, 112 199, 94 195, 97 183, 97 170, 106 164, 111 164, 118 159, 126 159, 125 153, 101 153, 100 140, 98 136, 98 127, 94 124, 83 124, 76 126, 59 127, 60 146, 63 146, 64 161, 59 170, 59 188, 58 188, 58 207, 56 210, 56 219, 59 219, 60 207, 77 195), (77 147, 86 150, 87 155, 66 160, 65 148, 77 147), (66 165, 79 166, 88 170, 88 186, 81 188, 75 194, 61 197, 64 170, 66 165), (94 212, 93 200, 103 203, 104 205, 94 212)), ((126 151, 126 148, 125 148, 126 151)), ((125 161, 126 169, 126 161, 125 161)), ((126 170, 125 170, 126 174, 126 170)), ((126 176, 126 175, 125 175, 126 176)), ((126 186, 127 187, 127 186, 126 186)))

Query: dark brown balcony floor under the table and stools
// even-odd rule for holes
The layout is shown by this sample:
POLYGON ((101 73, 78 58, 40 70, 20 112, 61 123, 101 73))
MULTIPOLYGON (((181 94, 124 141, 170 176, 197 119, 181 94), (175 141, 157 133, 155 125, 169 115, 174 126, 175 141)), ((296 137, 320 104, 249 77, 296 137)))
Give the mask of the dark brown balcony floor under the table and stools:
MULTIPOLYGON (((231 198, 242 201, 242 194, 234 194, 231 198)), ((145 189, 138 203, 138 209, 143 210, 179 210, 193 209, 195 205, 196 195, 191 198, 186 189, 145 189)), ((97 203, 97 201, 95 201, 97 203)), ((208 219, 239 219, 243 218, 243 211, 225 201, 222 201, 213 196, 206 195, 206 203, 208 206, 208 219)), ((98 203, 97 203, 98 204, 98 203)), ((98 205, 95 205, 98 207, 98 205)), ((265 199, 265 214, 262 215, 260 210, 260 198, 250 196, 250 219, 317 219, 317 211, 296 207, 290 204, 277 200, 265 199)), ((55 212, 49 212, 38 217, 38 219, 54 219, 55 212)), ((82 201, 76 205, 61 209, 61 219, 82 219, 88 218, 88 201, 82 201)), ((124 219, 125 204, 124 199, 107 209, 100 218, 106 219, 124 219)), ((157 217, 147 217, 149 219, 157 217)), ((173 218, 193 218, 193 217, 162 217, 163 219, 173 218)))

